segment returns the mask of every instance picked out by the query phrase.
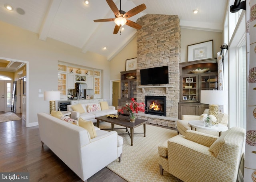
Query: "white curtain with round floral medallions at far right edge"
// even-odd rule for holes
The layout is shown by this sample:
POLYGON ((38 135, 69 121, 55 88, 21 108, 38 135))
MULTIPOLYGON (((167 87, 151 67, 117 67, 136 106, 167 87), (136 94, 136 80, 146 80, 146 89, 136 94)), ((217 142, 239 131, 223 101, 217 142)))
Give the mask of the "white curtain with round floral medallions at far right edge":
POLYGON ((246 0, 247 113, 244 182, 256 182, 256 0, 246 0))

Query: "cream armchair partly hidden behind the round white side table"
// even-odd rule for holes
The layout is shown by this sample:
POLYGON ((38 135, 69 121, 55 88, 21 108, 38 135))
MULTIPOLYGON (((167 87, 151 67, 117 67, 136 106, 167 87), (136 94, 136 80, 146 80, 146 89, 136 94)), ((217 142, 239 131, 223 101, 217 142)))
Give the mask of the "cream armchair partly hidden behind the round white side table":
MULTIPOLYGON (((205 109, 204 113, 208 114, 209 109, 205 109)), ((188 124, 188 121, 191 120, 200 120, 200 116, 195 116, 195 115, 182 115, 182 119, 177 120, 177 129, 178 133, 181 135, 185 135, 187 130, 191 130, 190 125, 188 124)), ((219 113, 219 125, 228 125, 228 115, 225 113, 219 113)), ((202 133, 214 135, 214 136, 219 136, 219 133, 216 131, 206 131, 203 129, 196 129, 196 131, 200 131, 202 133)))

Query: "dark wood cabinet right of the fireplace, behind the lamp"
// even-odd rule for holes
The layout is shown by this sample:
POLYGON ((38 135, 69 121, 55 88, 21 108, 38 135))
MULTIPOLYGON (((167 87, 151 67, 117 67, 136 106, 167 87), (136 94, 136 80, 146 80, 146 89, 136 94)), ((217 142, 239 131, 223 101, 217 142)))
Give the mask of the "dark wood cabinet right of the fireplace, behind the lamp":
POLYGON ((207 104, 200 103, 201 90, 218 90, 216 58, 180 63, 179 119, 182 115, 201 115, 207 104), (203 72, 203 69, 209 69, 203 72))

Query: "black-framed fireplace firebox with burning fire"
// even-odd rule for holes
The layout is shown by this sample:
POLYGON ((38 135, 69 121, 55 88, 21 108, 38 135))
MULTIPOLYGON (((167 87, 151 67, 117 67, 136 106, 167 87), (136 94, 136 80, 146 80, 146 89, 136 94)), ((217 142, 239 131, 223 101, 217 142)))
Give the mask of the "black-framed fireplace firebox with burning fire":
POLYGON ((166 96, 145 96, 145 114, 166 116, 166 96))

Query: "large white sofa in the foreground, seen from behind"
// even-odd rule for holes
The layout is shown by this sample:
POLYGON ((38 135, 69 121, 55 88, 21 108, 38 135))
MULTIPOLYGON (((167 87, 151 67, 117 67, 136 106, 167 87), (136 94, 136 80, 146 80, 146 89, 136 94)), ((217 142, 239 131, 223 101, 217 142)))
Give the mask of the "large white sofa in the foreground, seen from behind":
POLYGON ((77 125, 38 113, 40 138, 83 181, 122 156, 122 137, 96 127, 95 138, 77 125))

